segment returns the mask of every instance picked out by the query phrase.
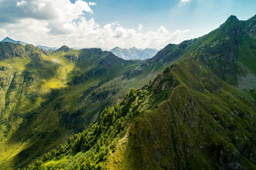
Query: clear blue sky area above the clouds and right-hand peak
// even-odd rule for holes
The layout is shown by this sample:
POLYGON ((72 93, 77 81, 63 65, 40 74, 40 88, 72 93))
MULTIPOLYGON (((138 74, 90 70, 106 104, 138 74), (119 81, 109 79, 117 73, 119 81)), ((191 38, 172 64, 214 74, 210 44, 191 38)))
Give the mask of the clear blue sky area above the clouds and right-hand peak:
MULTIPOLYGON (((73 0, 74 1, 74 0, 73 0)), ((137 28, 139 23, 144 31, 164 26, 167 30, 193 30, 190 37, 197 37, 218 28, 230 15, 247 20, 256 14, 255 0, 95 0, 92 9, 97 23, 104 25, 117 21, 125 28, 137 28)))

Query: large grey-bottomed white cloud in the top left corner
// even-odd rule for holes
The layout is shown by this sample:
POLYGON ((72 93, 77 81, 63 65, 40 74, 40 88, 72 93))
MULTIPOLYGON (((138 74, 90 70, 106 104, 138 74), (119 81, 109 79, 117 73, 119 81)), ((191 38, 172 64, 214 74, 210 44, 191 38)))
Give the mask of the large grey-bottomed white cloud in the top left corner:
POLYGON ((93 11, 87 2, 82 0, 75 1, 75 4, 70 0, 4 0, 0 6, 0 23, 16 23, 21 18, 70 21, 84 13, 93 11))

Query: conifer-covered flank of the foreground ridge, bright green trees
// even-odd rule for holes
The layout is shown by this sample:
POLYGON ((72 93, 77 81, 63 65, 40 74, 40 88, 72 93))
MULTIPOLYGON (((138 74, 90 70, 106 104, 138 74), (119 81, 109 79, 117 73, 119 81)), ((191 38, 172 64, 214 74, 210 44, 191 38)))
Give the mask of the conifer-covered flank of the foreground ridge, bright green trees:
POLYGON ((39 169, 103 168, 107 154, 110 150, 114 150, 116 142, 125 135, 129 120, 142 111, 154 108, 164 100, 164 96, 168 97, 166 91, 156 96, 151 95, 150 91, 147 87, 142 90, 131 90, 119 104, 105 109, 95 125, 90 125, 84 132, 70 137, 68 142, 59 145, 41 161, 28 166, 28 169, 33 169, 35 166, 39 169))

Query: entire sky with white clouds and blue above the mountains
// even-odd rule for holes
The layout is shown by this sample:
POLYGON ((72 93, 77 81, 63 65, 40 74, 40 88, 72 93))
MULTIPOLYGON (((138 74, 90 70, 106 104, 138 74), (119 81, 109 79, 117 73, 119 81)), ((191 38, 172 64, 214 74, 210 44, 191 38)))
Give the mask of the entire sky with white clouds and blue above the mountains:
POLYGON ((0 0, 0 40, 48 47, 151 47, 198 38, 255 0, 0 0))

